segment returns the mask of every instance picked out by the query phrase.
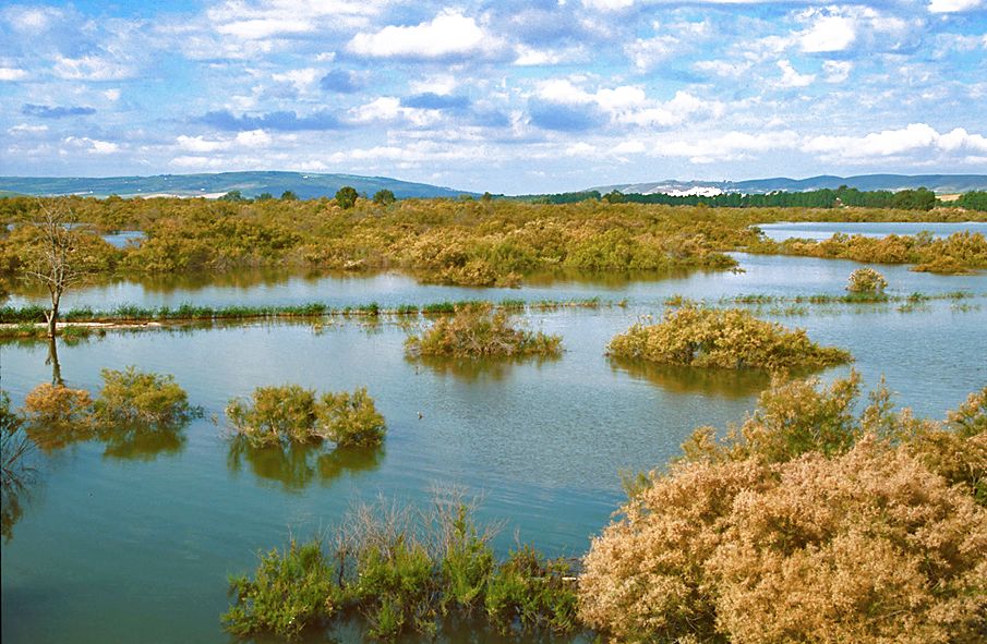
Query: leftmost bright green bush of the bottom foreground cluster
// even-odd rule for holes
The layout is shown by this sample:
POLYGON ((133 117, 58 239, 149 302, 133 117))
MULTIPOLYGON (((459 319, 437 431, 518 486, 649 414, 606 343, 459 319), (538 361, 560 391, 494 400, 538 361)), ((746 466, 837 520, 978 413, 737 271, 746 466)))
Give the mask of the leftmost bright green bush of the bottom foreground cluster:
POLYGON ((254 578, 230 578, 236 604, 222 616, 237 635, 274 633, 296 637, 304 629, 333 617, 339 588, 318 542, 291 545, 261 556, 254 578))

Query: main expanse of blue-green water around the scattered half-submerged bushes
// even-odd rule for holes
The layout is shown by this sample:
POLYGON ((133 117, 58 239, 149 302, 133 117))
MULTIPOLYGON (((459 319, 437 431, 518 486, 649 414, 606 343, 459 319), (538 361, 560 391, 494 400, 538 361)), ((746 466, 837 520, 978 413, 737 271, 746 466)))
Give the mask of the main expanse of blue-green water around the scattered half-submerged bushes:
MULTIPOLYGON (((610 338, 640 315, 660 315, 681 293, 715 300, 744 293, 843 292, 858 264, 737 255, 745 272, 662 280, 564 279, 522 289, 422 285, 400 275, 267 276, 228 285, 134 282, 70 294, 69 306, 290 304, 336 306, 443 300, 600 296, 625 307, 532 313, 533 329, 561 333, 558 360, 518 363, 404 356, 413 330, 394 321, 248 324, 196 330, 111 332, 59 347, 62 376, 94 393, 101 368, 140 365, 172 374, 205 417, 179 441, 88 442, 38 458, 24 513, 2 545, 2 640, 14 642, 227 642, 219 624, 227 575, 252 571, 258 549, 330 527, 354 501, 380 494, 425 503, 434 486, 481 494, 481 519, 504 520, 499 552, 522 540, 579 555, 623 498, 621 470, 660 467, 694 427, 741 421, 767 378, 757 374, 615 364, 610 338), (227 401, 264 385, 320 390, 366 386, 388 434, 376 452, 287 457, 231 451, 227 401), (421 414, 421 417, 419 417, 421 414), (217 423, 212 421, 216 417, 217 423)), ((850 350, 866 387, 881 375, 899 402, 941 417, 987 384, 987 278, 878 267, 896 293, 962 290, 910 313, 895 305, 813 307, 779 319, 850 350)), ((15 303, 32 296, 19 295, 15 303)), ((762 312, 766 317, 770 317, 762 312)), ((416 323, 424 324, 419 320, 416 323)), ((0 377, 15 405, 49 381, 44 343, 0 345, 0 377)), ((845 375, 830 369, 823 379, 845 375)), ((359 640, 345 630, 341 641, 359 640)), ((495 641, 447 633, 448 641, 495 641)), ((316 640, 323 641, 323 640, 316 640)))

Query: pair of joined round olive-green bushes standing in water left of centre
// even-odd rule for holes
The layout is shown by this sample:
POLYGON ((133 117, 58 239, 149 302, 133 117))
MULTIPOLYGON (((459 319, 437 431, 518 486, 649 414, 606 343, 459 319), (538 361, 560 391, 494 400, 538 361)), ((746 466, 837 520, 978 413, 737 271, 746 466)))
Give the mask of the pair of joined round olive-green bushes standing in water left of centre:
POLYGON ((257 387, 249 401, 231 400, 226 414, 233 428, 254 446, 320 443, 337 447, 380 445, 386 433, 366 388, 326 393, 299 385, 257 387))

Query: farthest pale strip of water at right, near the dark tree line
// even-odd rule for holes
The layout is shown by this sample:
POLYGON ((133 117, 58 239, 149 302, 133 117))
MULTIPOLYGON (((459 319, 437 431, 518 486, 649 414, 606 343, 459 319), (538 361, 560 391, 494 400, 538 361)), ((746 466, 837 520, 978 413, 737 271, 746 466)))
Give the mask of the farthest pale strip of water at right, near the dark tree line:
POLYGON ((914 235, 928 231, 936 238, 947 238, 954 232, 978 232, 987 234, 987 222, 961 221, 958 223, 926 223, 920 221, 894 222, 842 222, 842 221, 782 221, 760 223, 758 228, 775 242, 791 239, 828 240, 833 234, 859 234, 866 238, 884 238, 889 234, 914 235))

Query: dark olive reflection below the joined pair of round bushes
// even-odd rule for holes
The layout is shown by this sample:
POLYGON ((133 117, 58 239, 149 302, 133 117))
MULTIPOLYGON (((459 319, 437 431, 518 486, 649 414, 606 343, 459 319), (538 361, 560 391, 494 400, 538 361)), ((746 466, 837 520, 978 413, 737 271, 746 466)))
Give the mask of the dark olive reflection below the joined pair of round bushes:
POLYGON ((238 474, 244 463, 254 476, 279 483, 290 491, 305 489, 314 482, 327 485, 342 474, 376 470, 384 459, 384 448, 336 448, 320 445, 256 447, 242 436, 230 440, 227 466, 238 474))

